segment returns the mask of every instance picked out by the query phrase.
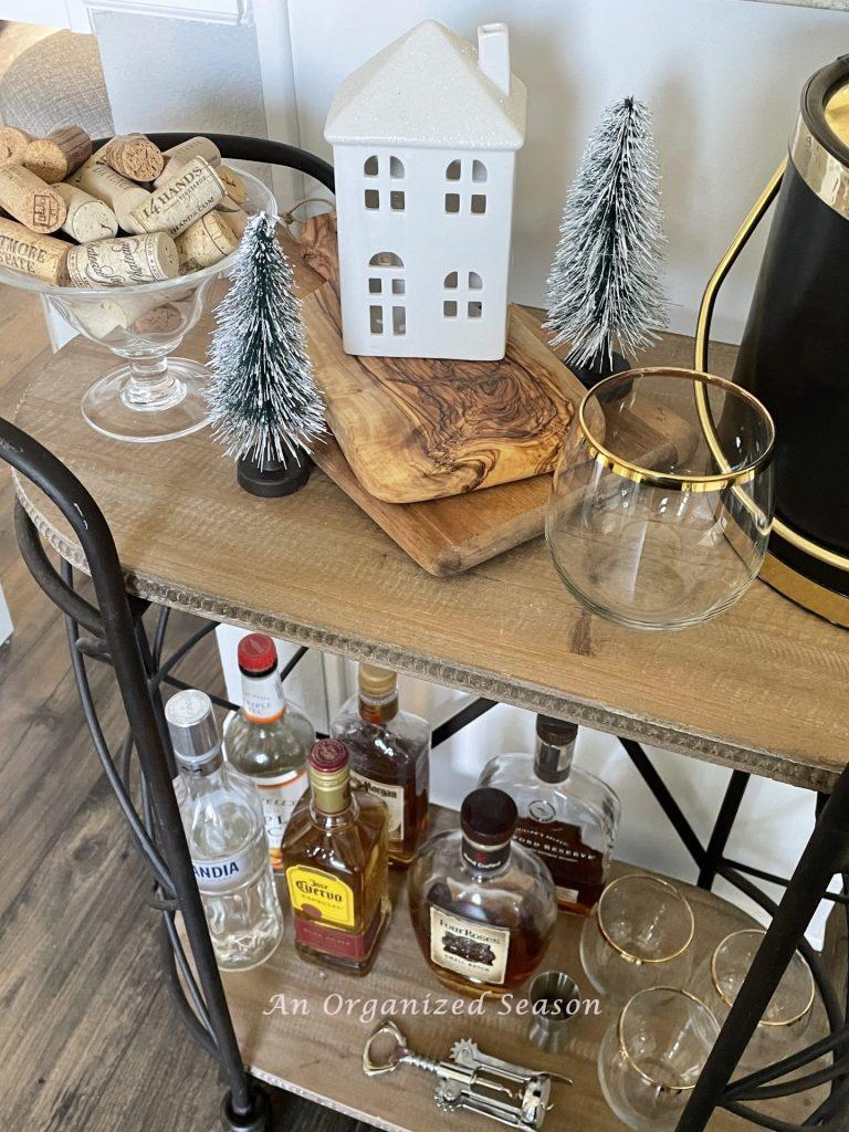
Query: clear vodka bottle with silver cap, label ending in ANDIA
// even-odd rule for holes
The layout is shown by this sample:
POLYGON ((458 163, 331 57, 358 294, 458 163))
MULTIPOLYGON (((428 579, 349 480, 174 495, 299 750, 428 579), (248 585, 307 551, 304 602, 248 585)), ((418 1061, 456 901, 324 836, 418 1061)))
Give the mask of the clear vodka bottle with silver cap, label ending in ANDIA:
POLYGON ((283 936, 263 808, 254 787, 224 762, 205 692, 171 696, 165 719, 180 771, 180 816, 215 957, 223 970, 243 971, 264 962, 283 936))

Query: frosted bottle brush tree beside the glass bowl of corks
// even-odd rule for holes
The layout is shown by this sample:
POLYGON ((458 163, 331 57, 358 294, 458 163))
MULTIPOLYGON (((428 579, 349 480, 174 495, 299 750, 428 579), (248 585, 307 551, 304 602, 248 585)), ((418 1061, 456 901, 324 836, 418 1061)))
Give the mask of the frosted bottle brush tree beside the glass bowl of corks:
POLYGON ((327 435, 292 268, 275 226, 266 213, 248 221, 209 351, 213 437, 237 458, 241 487, 267 496, 303 487, 306 453, 327 435))

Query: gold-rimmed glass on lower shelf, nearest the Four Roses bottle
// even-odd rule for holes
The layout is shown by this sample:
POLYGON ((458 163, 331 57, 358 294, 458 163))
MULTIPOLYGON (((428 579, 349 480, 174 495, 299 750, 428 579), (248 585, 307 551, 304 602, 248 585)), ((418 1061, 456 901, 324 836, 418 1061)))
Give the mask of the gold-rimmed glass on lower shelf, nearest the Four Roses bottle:
POLYGON ((620 876, 601 893, 581 932, 581 962, 601 994, 681 986, 693 970, 693 909, 659 876, 620 876))

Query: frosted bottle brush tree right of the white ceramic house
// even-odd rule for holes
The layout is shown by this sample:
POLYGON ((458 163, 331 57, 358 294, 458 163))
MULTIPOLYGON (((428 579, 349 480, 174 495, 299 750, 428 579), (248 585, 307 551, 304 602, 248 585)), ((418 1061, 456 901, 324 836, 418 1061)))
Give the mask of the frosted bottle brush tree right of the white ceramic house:
POLYGON ((628 368, 667 325, 660 173, 648 109, 633 97, 590 136, 560 221, 546 327, 584 385, 628 368), (619 354, 617 354, 617 349, 619 354))

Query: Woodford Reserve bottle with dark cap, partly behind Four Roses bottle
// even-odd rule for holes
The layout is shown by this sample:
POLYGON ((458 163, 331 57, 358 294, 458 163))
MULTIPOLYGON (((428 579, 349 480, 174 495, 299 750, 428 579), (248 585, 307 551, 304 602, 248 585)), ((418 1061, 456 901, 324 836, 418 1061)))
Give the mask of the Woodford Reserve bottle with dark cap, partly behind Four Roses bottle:
POLYGON ((560 908, 588 916, 607 883, 620 806, 607 783, 572 765, 576 738, 576 723, 538 715, 535 754, 498 755, 478 784, 512 796, 516 841, 548 865, 560 908))

